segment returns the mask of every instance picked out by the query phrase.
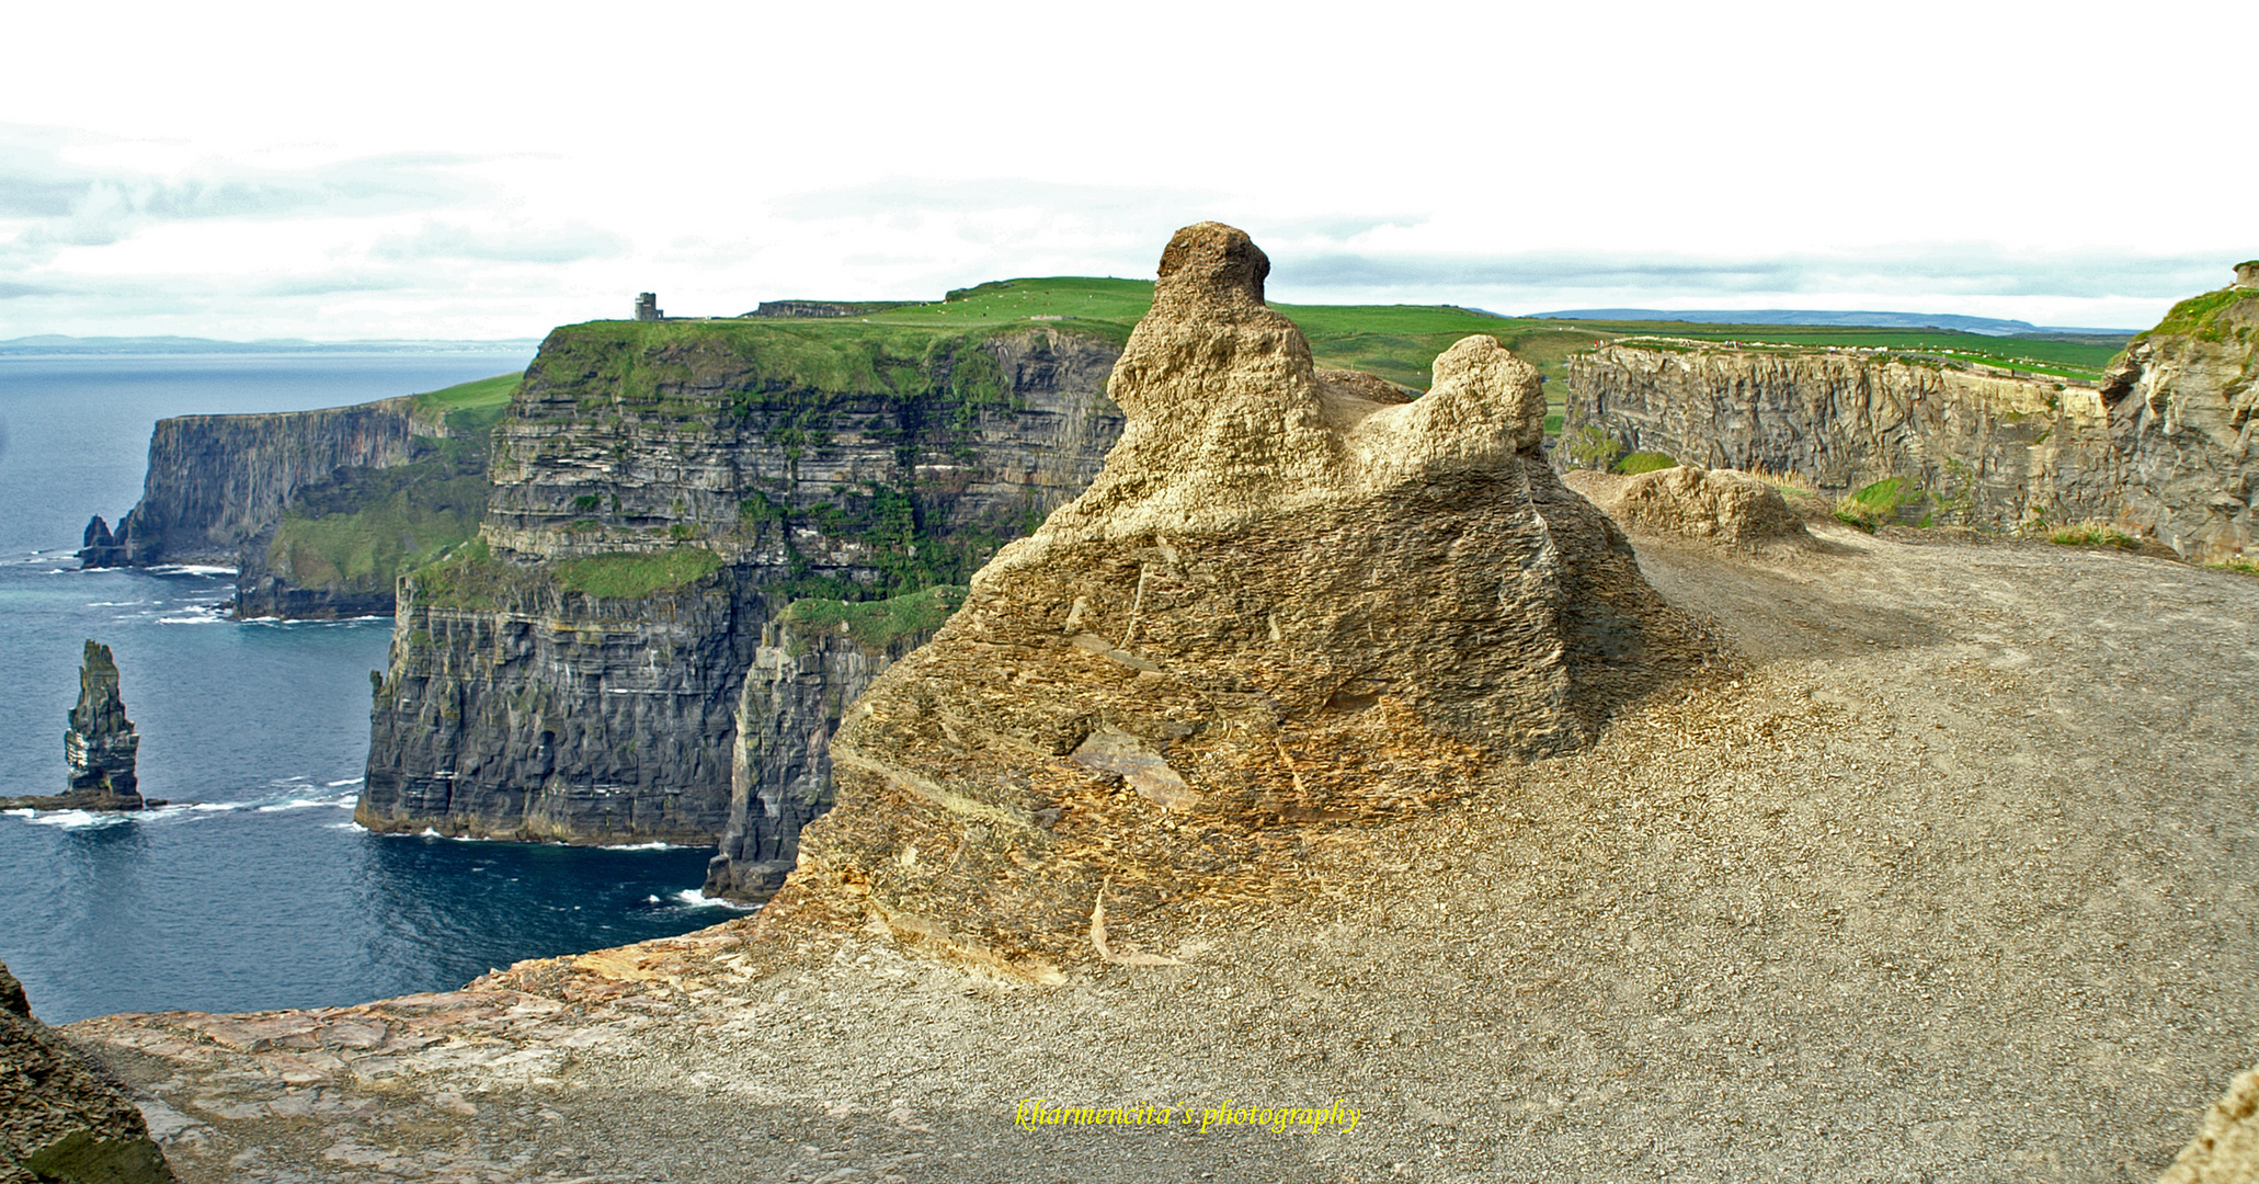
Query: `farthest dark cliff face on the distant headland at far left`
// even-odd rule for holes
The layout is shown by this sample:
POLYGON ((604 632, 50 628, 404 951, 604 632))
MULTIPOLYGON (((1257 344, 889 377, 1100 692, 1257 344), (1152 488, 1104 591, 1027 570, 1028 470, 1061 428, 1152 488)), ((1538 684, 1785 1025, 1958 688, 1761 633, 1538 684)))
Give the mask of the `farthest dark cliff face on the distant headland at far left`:
POLYGON ((142 499, 111 531, 86 526, 86 567, 235 563, 291 495, 341 468, 391 468, 411 454, 411 398, 273 416, 178 416, 149 436, 142 499))

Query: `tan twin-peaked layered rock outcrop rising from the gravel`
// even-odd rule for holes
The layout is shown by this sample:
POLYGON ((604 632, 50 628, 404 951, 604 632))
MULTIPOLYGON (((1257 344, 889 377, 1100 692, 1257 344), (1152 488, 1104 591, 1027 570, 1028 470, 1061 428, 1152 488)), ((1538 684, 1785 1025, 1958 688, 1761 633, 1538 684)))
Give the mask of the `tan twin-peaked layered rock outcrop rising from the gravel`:
POLYGON ((1471 337, 1376 402, 1312 371, 1267 271, 1229 226, 1168 244, 1105 472, 856 700, 773 915, 1037 976, 1150 958, 1102 917, 1579 746, 1708 658, 1541 454, 1536 368, 1471 337))

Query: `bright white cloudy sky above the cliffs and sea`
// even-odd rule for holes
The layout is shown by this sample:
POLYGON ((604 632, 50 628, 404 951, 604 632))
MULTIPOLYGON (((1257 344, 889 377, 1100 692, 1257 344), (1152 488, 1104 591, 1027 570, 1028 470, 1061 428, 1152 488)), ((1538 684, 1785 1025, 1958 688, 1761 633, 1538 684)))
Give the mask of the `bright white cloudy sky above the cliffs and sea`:
POLYGON ((1202 219, 1274 301, 2144 328, 2259 258, 2259 5, 2132 11, 25 5, 0 339, 1150 278, 1202 219))

